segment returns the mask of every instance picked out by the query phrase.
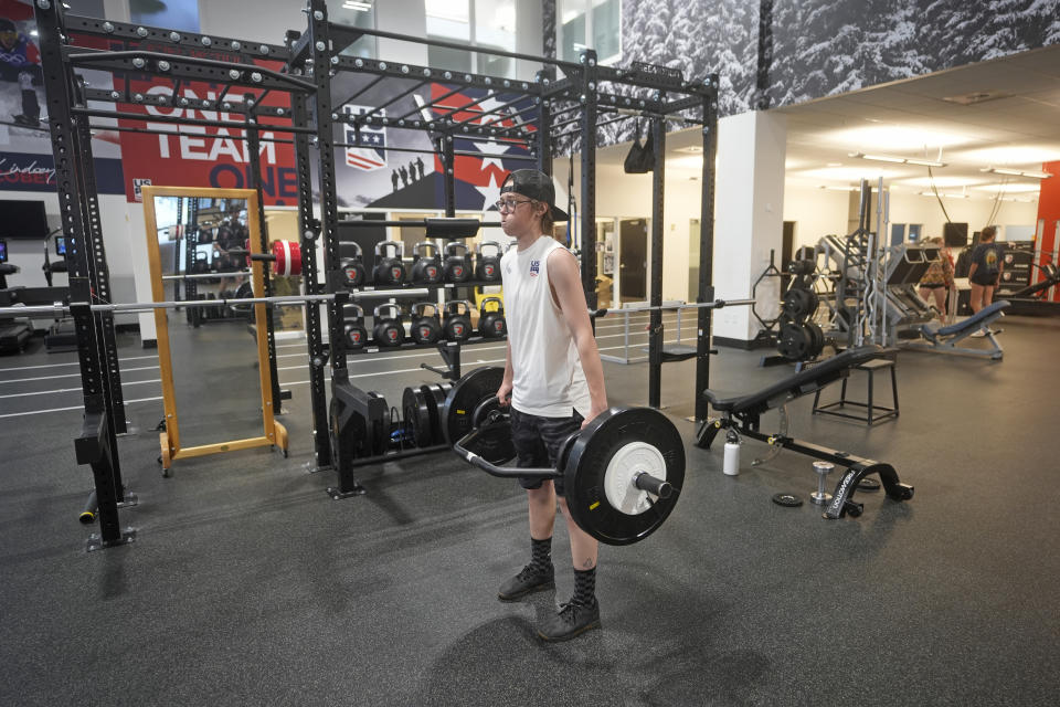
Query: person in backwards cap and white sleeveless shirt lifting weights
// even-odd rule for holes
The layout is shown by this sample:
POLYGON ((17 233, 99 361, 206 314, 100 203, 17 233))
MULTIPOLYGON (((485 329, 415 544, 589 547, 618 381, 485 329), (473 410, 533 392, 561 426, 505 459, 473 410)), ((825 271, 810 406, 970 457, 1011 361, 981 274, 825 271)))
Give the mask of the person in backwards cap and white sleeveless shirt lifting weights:
MULTIPOLYGON (((554 202, 551 177, 533 169, 511 172, 497 202, 501 228, 516 239, 500 261, 508 355, 497 398, 511 405, 511 434, 521 467, 554 466, 563 440, 607 409, 577 262, 545 235, 554 221, 568 218, 554 202)), ((539 627, 538 635, 565 641, 598 627, 597 542, 571 520, 563 479, 520 478, 519 484, 529 502, 531 560, 501 584, 498 597, 512 601, 554 589, 552 527, 559 499, 571 538, 574 595, 539 627)))

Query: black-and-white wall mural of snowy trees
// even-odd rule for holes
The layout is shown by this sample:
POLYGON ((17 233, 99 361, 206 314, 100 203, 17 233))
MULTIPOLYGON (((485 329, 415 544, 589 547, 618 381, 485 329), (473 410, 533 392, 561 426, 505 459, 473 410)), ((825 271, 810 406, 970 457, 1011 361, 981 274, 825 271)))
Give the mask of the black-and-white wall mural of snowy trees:
MULTIPOLYGON (((770 0, 768 105, 791 105, 1060 43, 1060 0, 770 0)), ((623 0, 622 65, 717 72, 722 116, 759 105, 757 0, 623 0)), ((632 139, 628 122, 602 143, 632 139)))

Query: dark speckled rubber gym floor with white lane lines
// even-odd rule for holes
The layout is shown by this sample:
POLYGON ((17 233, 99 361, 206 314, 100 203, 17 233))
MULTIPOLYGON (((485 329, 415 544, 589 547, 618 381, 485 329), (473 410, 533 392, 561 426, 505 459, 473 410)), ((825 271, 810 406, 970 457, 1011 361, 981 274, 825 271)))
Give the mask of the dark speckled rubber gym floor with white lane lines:
MULTIPOLYGON (((680 502, 647 540, 601 548, 603 630, 555 645, 533 627, 573 588, 563 525, 556 591, 500 603, 498 584, 529 553, 513 482, 441 453, 364 468, 368 495, 331 500, 335 474, 307 472, 297 341, 279 349, 294 392, 280 418, 290 456, 177 461, 162 478, 158 359, 121 335, 137 432, 118 444, 139 497, 121 520, 138 536, 87 553, 76 356, 46 355, 34 339, 0 359, 0 704, 1054 704, 1060 320, 1000 324, 1001 362, 901 354, 897 421, 813 416, 812 397, 789 405, 792 434, 889 462, 915 486, 903 504, 859 493, 860 518, 773 504, 777 492, 808 502, 815 488, 812 460, 791 452, 752 468, 765 446, 748 441, 741 474, 723 475, 721 445, 692 446, 683 419, 693 363, 667 365, 664 404, 688 442, 680 502)), ((171 327, 186 443, 251 433, 245 326, 171 327)), ((623 344, 621 319, 597 334, 602 348, 623 344)), ((633 341, 638 354, 643 334, 633 341)), ((502 352, 479 345, 464 359, 496 363, 502 352)), ((760 356, 722 348, 712 386, 750 392, 792 373, 759 368, 760 356)), ((424 361, 438 357, 349 366, 354 383, 399 404, 405 386, 437 380, 424 361)), ((605 374, 612 404, 646 403, 646 365, 605 363, 605 374)), ((877 390, 887 402, 879 378, 877 390)))

